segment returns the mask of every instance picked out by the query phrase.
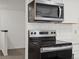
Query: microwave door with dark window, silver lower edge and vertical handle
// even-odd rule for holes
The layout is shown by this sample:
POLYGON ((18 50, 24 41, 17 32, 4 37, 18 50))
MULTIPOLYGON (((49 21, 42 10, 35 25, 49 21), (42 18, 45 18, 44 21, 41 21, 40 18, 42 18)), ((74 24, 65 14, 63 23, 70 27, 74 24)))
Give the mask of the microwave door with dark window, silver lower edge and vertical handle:
POLYGON ((35 20, 62 21, 63 6, 36 3, 35 20))

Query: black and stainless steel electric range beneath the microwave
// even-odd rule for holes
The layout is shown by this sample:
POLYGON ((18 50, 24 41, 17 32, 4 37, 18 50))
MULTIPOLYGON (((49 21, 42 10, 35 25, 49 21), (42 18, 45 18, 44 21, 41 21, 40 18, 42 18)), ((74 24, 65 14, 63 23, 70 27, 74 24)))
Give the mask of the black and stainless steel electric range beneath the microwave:
POLYGON ((56 31, 29 31, 29 59, 72 59, 72 43, 56 40, 56 31))

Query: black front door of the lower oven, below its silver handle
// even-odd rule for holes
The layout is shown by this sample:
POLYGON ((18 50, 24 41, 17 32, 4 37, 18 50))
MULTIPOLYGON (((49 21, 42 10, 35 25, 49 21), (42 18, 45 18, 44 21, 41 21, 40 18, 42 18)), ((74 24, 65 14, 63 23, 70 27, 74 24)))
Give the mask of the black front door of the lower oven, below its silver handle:
POLYGON ((45 51, 41 51, 41 59, 72 59, 72 48, 69 47, 67 47, 67 49, 60 49, 60 48, 59 50, 58 48, 56 50, 46 48, 45 51))

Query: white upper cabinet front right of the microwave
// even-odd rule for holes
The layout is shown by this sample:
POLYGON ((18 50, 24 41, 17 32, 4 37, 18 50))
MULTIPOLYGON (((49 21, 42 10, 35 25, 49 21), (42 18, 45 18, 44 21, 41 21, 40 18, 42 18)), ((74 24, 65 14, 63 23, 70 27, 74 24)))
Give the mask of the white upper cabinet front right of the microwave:
POLYGON ((79 19, 79 0, 64 0, 64 23, 76 23, 79 19))

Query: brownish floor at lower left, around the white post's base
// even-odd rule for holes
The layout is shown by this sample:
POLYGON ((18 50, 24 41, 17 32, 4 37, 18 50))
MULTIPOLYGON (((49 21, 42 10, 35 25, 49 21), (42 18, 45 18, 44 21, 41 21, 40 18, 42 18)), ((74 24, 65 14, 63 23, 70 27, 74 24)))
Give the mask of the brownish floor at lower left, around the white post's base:
POLYGON ((0 51, 0 59, 25 59, 25 49, 11 49, 8 56, 3 56, 0 51))

